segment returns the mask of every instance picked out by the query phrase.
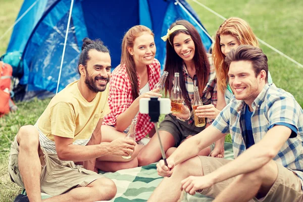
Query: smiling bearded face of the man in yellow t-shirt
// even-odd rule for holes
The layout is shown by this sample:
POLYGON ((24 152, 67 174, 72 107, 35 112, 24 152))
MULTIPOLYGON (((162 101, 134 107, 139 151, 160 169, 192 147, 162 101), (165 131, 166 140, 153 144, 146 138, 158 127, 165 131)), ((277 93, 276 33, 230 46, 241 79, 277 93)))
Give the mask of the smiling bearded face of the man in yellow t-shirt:
POLYGON ((92 92, 104 91, 111 77, 110 54, 91 49, 88 56, 89 60, 85 68, 85 84, 92 92))

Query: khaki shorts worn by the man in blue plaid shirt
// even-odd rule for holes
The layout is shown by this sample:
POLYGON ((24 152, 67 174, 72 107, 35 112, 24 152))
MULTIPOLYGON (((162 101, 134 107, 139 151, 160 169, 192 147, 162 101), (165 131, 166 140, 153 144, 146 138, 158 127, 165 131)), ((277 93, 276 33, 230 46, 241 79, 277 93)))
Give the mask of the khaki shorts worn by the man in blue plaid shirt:
MULTIPOLYGON (((219 159, 213 157, 199 156, 203 168, 204 175, 207 175, 219 167, 227 164, 232 160, 219 159)), ((303 201, 303 191, 299 177, 294 174, 291 170, 288 170, 284 166, 277 163, 278 166, 278 177, 270 188, 269 192, 262 199, 253 198, 250 201, 255 202, 278 202, 278 201, 291 201, 301 202, 303 201)), ((214 184, 213 186, 203 189, 200 193, 206 196, 215 198, 222 192, 235 177, 227 179, 223 182, 214 184)))

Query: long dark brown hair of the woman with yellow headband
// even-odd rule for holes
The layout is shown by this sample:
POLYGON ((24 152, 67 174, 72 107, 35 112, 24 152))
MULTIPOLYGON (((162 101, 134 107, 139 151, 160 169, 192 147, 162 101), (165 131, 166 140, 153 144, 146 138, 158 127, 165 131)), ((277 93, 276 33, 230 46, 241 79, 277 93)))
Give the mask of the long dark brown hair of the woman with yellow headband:
POLYGON ((209 79, 210 64, 209 64, 209 60, 208 60, 204 45, 202 43, 201 37, 200 37, 198 31, 194 28, 194 26, 186 20, 178 20, 178 21, 174 22, 170 26, 169 29, 173 28, 176 25, 183 25, 187 30, 181 29, 181 30, 174 31, 170 35, 169 40, 166 41, 165 71, 168 72, 168 78, 165 81, 165 94, 167 94, 167 92, 170 93, 170 91, 173 87, 172 81, 173 81, 174 74, 175 74, 175 72, 179 72, 180 88, 182 90, 182 96, 184 98, 186 105, 190 108, 190 102, 187 99, 187 90, 186 90, 186 85, 185 85, 184 75, 183 75, 183 60, 175 52, 175 48, 173 47, 173 45, 171 45, 171 44, 174 44, 174 37, 177 34, 182 32, 187 35, 190 35, 193 40, 194 47, 195 47, 193 61, 194 61, 194 66, 195 66, 196 76, 197 76, 196 86, 198 86, 198 88, 199 88, 200 96, 203 95, 203 90, 209 79))

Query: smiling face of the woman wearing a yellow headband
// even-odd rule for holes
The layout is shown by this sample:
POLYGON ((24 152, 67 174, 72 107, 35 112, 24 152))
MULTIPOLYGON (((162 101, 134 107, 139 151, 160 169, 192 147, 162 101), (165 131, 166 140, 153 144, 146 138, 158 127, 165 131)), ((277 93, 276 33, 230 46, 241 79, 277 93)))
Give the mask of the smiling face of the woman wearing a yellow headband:
POLYGON ((178 33, 173 39, 173 46, 180 58, 184 61, 192 61, 195 46, 190 35, 183 32, 178 33))

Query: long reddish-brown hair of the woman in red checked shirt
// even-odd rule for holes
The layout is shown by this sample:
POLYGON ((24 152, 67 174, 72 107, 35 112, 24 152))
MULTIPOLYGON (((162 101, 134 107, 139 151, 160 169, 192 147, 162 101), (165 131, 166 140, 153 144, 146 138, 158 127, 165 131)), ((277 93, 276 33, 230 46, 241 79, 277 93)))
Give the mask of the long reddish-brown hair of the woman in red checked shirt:
POLYGON ((136 25, 125 33, 122 41, 122 54, 120 64, 124 64, 126 67, 126 72, 131 84, 131 94, 133 99, 136 99, 139 96, 139 85, 135 62, 133 56, 128 52, 127 47, 133 48, 135 39, 138 36, 141 36, 143 33, 148 33, 154 36, 154 33, 148 27, 145 27, 143 25, 136 25))

